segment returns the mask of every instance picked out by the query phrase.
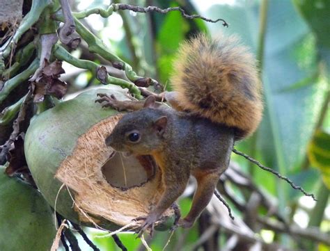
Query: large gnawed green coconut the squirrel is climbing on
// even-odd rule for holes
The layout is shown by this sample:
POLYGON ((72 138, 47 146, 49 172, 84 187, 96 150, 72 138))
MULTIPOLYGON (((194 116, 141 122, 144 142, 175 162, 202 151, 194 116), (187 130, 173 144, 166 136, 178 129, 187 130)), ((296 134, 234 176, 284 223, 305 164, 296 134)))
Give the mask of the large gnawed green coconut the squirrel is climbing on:
MULTIPOLYGON (((33 179, 58 213, 114 230, 146 216, 164 188, 151 157, 125 157, 105 145, 123 113, 95 103, 100 92, 129 99, 116 86, 86 90, 34 118, 24 150, 33 179)), ((171 225, 174 211, 168 209, 164 218, 171 225)))

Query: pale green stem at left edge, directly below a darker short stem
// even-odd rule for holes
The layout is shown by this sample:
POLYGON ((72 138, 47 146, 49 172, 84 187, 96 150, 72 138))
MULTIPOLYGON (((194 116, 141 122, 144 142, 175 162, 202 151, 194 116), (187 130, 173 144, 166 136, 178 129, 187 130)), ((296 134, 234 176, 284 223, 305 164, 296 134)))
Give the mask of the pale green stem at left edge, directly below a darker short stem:
POLYGON ((3 88, 0 92, 0 104, 3 102, 4 99, 6 99, 6 97, 14 88, 16 88, 20 83, 26 81, 26 79, 29 79, 29 76, 31 76, 34 72, 36 72, 38 66, 39 66, 39 60, 38 58, 36 58, 35 60, 33 60, 31 65, 29 65, 29 67, 26 70, 17 74, 12 79, 8 79, 6 83, 3 85, 3 88))

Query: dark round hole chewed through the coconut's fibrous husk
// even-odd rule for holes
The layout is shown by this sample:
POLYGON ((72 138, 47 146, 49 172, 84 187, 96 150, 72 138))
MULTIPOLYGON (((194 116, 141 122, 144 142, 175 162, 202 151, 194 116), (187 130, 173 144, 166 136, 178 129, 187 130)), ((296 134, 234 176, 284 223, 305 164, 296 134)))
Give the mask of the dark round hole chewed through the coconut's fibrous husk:
POLYGON ((111 186, 126 190, 150 180, 155 175, 155 161, 149 155, 123 156, 114 152, 102 166, 102 174, 111 186))

